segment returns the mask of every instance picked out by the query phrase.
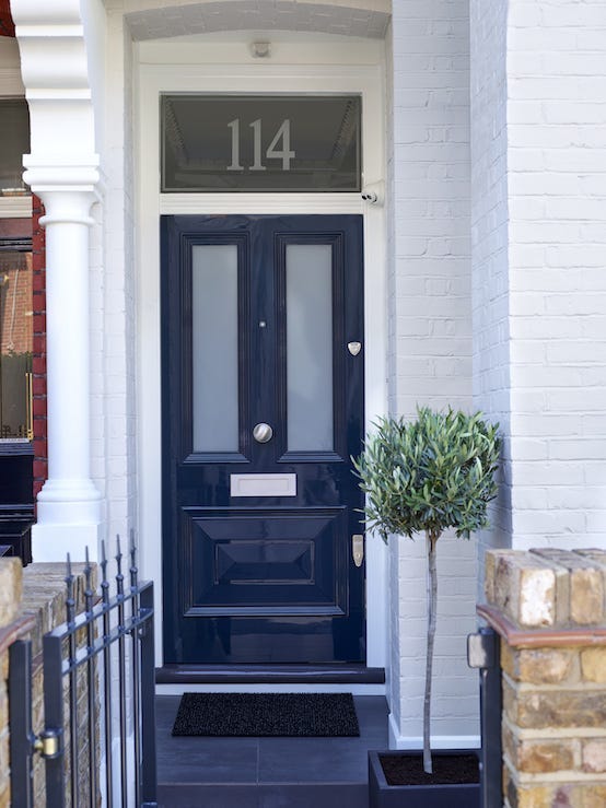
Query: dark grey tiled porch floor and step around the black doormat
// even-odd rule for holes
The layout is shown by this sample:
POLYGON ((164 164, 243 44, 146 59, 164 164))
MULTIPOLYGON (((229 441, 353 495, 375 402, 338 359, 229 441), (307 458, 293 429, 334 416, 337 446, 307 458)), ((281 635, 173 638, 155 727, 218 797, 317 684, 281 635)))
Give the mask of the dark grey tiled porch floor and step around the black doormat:
POLYGON ((179 698, 158 696, 159 806, 366 808, 368 750, 387 747, 387 705, 354 702, 359 738, 173 738, 179 698))

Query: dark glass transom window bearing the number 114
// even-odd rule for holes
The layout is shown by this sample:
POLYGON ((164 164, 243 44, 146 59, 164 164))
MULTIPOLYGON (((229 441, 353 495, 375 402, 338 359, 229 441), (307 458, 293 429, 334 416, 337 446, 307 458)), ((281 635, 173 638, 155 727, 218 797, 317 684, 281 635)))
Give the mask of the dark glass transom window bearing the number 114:
POLYGON ((361 102, 164 95, 162 191, 359 191, 361 102))

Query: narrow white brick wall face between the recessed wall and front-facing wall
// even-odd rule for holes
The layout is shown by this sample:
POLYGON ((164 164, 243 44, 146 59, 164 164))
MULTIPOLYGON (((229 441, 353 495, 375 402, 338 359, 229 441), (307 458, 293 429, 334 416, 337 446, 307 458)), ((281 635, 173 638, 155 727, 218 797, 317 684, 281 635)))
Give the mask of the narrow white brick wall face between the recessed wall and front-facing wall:
POLYGON ((506 0, 470 2, 471 266, 474 408, 505 438, 491 527, 478 536, 478 599, 483 554, 511 541, 509 232, 506 184, 506 0))

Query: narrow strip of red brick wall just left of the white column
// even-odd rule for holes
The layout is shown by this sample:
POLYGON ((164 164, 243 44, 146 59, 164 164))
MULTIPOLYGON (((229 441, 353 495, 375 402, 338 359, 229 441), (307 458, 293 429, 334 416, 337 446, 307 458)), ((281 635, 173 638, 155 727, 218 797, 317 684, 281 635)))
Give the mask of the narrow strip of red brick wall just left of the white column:
POLYGON ((34 496, 42 489, 48 477, 48 446, 46 440, 46 248, 45 231, 39 220, 44 215, 44 206, 37 197, 32 198, 33 206, 33 319, 34 319, 34 355, 32 360, 34 374, 34 496))

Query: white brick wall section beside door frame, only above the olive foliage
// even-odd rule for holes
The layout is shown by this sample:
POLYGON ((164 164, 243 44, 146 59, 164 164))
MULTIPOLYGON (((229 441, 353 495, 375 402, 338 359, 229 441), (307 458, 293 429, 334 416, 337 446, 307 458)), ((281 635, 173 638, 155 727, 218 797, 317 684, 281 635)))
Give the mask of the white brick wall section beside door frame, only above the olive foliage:
POLYGON ((394 3, 391 406, 404 414, 470 401, 466 9, 394 3))

